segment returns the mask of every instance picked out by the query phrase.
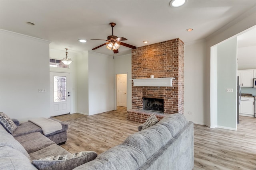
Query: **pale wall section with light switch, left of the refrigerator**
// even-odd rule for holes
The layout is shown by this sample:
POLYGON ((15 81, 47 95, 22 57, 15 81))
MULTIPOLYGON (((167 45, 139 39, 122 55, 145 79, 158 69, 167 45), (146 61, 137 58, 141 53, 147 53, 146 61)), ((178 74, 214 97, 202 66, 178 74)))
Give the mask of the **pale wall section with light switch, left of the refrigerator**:
POLYGON ((237 39, 236 37, 217 46, 217 125, 236 130, 237 90, 237 39), (226 89, 233 92, 226 92, 226 89))

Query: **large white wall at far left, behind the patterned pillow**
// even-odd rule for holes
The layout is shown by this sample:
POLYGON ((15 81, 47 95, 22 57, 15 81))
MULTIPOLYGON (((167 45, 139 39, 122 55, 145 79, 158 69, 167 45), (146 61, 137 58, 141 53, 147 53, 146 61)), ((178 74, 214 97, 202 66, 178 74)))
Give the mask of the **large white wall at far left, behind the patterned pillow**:
POLYGON ((0 111, 21 122, 49 117, 50 42, 5 30, 0 37, 0 111))

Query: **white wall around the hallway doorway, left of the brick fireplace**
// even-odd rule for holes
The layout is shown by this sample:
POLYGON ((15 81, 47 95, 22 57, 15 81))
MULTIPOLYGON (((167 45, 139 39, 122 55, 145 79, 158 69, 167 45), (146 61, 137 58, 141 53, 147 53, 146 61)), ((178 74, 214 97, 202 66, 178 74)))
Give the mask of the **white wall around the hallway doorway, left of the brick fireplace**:
MULTIPOLYGON (((127 74, 127 109, 132 109, 132 54, 121 55, 114 59, 114 78, 115 78, 115 107, 116 107, 116 74, 127 74)), ((116 109, 116 108, 115 108, 116 109)))

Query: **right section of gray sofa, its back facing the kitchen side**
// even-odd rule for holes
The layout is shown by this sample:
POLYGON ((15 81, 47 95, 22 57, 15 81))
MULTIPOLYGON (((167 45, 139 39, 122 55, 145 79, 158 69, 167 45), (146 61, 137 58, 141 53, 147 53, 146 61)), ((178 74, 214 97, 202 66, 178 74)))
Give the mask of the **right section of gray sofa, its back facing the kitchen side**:
POLYGON ((194 127, 180 113, 130 135, 74 170, 192 170, 194 127))

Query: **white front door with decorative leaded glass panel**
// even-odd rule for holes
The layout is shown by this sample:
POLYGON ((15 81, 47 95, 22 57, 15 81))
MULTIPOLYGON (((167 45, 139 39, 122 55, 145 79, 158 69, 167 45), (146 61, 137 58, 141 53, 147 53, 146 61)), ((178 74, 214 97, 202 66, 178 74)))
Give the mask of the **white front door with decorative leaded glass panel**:
POLYGON ((50 72, 50 115, 70 113, 70 74, 50 72))

